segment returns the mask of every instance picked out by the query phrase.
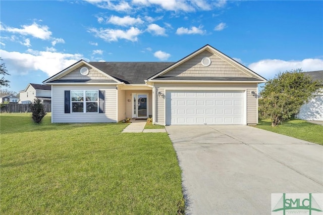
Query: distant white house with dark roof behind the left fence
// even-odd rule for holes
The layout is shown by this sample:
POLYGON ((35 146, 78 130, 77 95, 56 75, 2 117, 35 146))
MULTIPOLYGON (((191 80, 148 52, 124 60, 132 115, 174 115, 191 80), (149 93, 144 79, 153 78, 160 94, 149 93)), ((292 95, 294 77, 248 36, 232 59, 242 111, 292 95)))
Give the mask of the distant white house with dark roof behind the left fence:
POLYGON ((29 83, 24 90, 19 91, 19 97, 19 103, 23 104, 28 104, 35 98, 39 98, 43 104, 50 104, 51 87, 43 84, 29 83))

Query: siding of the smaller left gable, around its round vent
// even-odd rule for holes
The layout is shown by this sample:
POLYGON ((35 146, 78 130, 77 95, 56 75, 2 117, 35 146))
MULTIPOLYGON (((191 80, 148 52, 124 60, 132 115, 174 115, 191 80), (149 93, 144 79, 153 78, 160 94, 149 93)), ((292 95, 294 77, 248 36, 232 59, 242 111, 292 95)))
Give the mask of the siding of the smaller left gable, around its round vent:
POLYGON ((72 72, 66 74, 65 76, 61 77, 60 79, 89 79, 89 80, 111 80, 111 78, 107 77, 106 75, 90 68, 90 67, 86 67, 89 69, 89 74, 84 76, 80 74, 80 69, 82 67, 86 67, 86 66, 81 66, 75 70, 73 70, 72 72))

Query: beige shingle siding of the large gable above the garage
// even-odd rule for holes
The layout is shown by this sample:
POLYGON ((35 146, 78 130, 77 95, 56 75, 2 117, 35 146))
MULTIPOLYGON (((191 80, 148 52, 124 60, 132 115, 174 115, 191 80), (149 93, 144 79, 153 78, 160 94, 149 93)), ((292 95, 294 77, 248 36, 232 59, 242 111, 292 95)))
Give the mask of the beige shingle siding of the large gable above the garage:
POLYGON ((209 51, 203 51, 199 55, 182 63, 173 70, 162 76, 191 76, 191 77, 254 77, 251 73, 238 69, 220 57, 213 55, 209 51), (211 59, 211 65, 204 67, 201 60, 204 57, 211 59))

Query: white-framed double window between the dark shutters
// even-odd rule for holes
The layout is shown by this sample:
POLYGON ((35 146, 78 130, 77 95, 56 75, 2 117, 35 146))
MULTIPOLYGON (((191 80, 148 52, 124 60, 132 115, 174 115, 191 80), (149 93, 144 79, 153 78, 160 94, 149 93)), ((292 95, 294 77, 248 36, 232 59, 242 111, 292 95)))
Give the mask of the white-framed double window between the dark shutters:
POLYGON ((98 90, 71 90, 72 112, 98 113, 98 90))

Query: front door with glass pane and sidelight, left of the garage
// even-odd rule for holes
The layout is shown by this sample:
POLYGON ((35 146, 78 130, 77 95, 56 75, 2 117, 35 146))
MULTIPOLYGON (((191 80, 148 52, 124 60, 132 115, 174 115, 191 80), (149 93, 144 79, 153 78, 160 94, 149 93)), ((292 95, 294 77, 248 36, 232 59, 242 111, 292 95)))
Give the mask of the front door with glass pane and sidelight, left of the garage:
POLYGON ((148 117, 148 94, 134 93, 133 94, 133 117, 147 118, 148 117))

